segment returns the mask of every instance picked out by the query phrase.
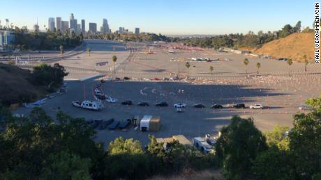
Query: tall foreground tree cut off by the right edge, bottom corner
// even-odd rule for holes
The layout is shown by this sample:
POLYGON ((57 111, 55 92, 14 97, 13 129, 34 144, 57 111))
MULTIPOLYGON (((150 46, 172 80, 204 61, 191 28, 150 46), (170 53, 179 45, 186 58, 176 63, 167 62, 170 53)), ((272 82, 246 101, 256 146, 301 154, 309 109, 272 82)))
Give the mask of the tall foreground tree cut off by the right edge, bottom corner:
POLYGON ((321 95, 308 99, 313 111, 294 115, 290 132, 290 152, 298 179, 311 179, 321 172, 321 95))

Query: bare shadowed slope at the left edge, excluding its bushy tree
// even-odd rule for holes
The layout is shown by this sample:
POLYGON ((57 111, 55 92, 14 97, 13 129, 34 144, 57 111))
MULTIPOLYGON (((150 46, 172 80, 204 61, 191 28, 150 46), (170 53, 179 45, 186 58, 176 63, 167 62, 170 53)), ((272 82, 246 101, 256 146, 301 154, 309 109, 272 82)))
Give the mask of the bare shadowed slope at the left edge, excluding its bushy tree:
POLYGON ((30 76, 29 70, 0 63, 0 103, 33 101, 45 95, 45 88, 33 85, 30 76))

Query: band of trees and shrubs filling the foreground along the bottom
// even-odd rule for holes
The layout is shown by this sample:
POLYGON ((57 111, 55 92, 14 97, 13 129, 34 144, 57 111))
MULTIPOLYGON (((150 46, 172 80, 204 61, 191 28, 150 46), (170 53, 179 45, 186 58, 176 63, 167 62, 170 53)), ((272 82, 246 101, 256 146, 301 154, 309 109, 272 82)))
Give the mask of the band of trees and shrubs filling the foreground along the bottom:
POLYGON ((0 177, 146 179, 219 168, 226 179, 320 179, 321 95, 306 104, 313 111, 294 115, 293 129, 276 126, 262 133, 251 118, 233 117, 221 129, 214 154, 201 154, 177 141, 165 151, 154 136, 149 136, 147 148, 120 137, 105 151, 82 118, 59 111, 54 120, 41 108, 33 108, 29 117, 13 117, 0 108, 0 177))

